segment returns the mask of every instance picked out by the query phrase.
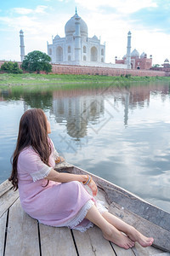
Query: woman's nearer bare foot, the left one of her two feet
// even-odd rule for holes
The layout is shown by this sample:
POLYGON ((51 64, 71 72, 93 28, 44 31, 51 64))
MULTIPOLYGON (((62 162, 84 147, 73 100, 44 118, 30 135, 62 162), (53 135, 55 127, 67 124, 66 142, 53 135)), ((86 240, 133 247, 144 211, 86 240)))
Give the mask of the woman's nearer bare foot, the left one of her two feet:
POLYGON ((112 241, 117 246, 124 249, 129 249, 134 246, 134 241, 123 235, 119 230, 112 230, 111 236, 105 234, 103 234, 103 236, 106 240, 112 241))

